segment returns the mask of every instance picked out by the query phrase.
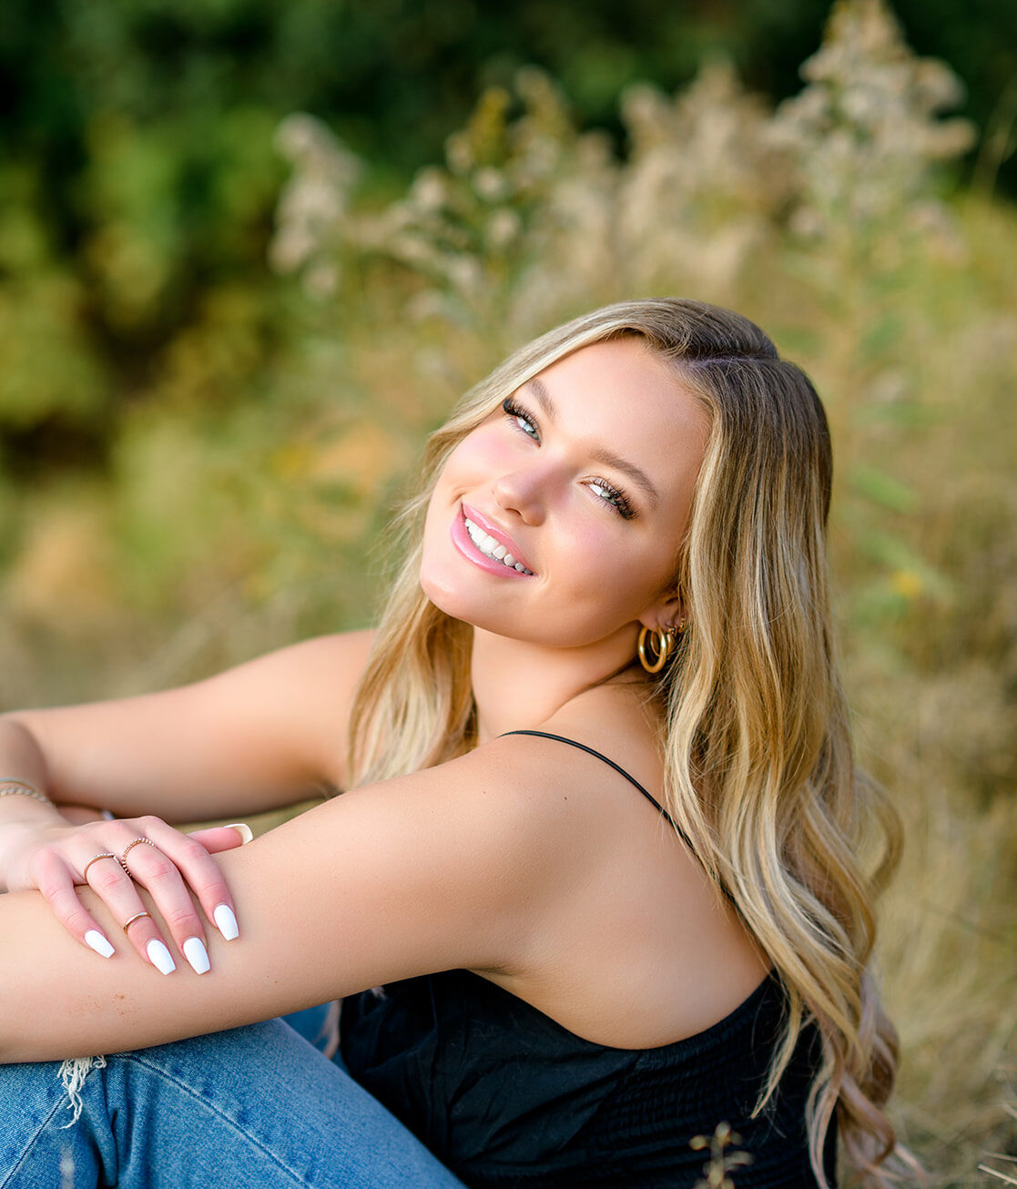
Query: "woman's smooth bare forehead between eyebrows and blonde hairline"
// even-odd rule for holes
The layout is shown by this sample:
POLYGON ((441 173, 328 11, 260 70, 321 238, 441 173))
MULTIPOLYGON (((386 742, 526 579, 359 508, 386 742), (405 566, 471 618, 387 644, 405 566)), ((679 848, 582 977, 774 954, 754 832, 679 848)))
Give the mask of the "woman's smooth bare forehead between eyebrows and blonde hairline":
POLYGON ((638 336, 580 347, 546 367, 536 385, 546 390, 563 433, 607 446, 647 472, 664 493, 695 482, 709 436, 703 402, 683 385, 678 371, 638 336))

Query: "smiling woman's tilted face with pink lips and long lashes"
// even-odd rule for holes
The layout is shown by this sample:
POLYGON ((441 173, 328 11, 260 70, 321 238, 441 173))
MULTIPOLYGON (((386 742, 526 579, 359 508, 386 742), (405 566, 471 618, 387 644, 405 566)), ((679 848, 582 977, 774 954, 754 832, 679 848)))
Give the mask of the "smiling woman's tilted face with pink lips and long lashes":
POLYGON ((427 512, 425 593, 454 618, 558 648, 677 621, 668 581, 708 433, 702 404, 639 338, 559 359, 448 458, 427 512))

